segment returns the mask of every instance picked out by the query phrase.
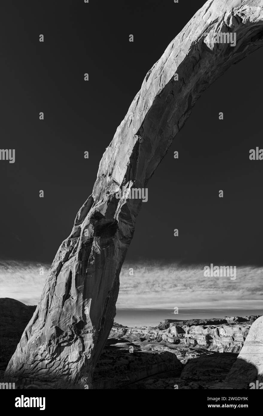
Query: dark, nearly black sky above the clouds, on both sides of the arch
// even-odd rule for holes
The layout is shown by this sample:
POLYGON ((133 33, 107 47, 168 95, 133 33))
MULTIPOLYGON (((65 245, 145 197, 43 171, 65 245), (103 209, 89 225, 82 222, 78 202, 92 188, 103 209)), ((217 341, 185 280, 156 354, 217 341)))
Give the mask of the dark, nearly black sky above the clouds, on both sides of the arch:
MULTIPOLYGON (((5 1, 0 147, 16 160, 0 161, 2 259, 52 262, 144 76, 203 3, 5 1)), ((128 260, 263 264, 263 161, 249 160, 263 147, 262 66, 258 50, 198 100, 148 183, 128 260)))

